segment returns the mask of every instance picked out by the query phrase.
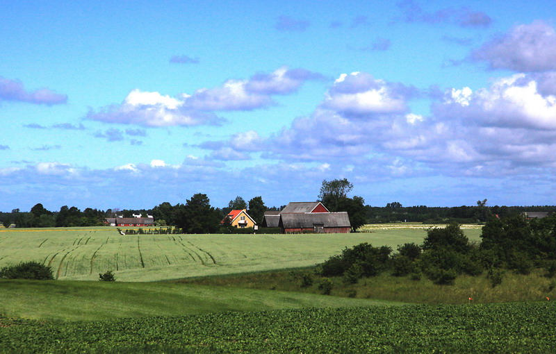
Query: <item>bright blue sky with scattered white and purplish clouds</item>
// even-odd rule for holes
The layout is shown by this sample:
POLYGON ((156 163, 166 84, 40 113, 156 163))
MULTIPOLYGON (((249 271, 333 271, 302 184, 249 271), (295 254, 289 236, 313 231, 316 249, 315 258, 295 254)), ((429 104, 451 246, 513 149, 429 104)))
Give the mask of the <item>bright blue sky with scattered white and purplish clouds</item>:
POLYGON ((544 1, 0 1, 0 210, 554 205, 544 1))

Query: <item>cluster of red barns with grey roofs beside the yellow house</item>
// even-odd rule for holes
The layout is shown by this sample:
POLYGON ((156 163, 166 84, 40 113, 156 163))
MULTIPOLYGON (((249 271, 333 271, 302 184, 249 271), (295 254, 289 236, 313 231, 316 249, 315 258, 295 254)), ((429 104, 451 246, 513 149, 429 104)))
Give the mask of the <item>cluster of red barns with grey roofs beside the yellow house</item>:
POLYGON ((265 212, 263 227, 281 228, 282 233, 349 233, 347 212, 329 212, 318 201, 289 203, 280 212, 265 212))

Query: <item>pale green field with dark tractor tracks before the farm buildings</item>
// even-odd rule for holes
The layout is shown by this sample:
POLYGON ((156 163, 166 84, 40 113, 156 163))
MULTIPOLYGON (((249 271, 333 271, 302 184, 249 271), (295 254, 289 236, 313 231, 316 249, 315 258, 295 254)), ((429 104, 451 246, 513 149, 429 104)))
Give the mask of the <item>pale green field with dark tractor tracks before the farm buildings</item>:
MULTIPOLYGON (((466 229, 470 239, 480 230, 466 229)), ((396 248, 423 242, 420 228, 331 235, 120 235, 115 228, 0 230, 0 267, 34 260, 60 280, 154 281, 309 267, 361 242, 396 248)))

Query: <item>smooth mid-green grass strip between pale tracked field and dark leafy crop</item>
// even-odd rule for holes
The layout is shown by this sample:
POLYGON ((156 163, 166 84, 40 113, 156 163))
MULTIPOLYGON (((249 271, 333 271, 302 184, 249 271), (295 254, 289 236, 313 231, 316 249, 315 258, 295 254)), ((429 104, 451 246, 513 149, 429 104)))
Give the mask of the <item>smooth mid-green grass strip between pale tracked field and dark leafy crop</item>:
POLYGON ((56 280, 0 280, 0 298, 7 317, 64 321, 401 304, 240 287, 56 280))

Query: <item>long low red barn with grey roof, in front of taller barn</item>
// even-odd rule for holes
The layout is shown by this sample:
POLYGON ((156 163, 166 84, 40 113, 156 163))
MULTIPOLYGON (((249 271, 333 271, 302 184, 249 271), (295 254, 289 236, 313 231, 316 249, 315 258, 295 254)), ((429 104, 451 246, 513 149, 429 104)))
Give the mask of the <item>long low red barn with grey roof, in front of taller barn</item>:
POLYGON ((351 230, 347 212, 282 212, 279 227, 282 233, 349 233, 351 230))

